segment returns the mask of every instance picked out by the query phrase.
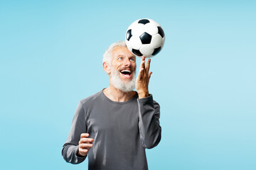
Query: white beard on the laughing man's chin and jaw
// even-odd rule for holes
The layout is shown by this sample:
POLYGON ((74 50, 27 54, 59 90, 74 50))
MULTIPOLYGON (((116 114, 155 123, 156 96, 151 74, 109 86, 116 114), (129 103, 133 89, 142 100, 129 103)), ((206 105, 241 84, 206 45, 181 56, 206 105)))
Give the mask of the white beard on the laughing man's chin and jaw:
POLYGON ((136 82, 135 72, 133 73, 132 80, 127 83, 125 83, 124 81, 122 81, 122 79, 120 79, 119 71, 111 68, 111 73, 112 73, 112 77, 110 79, 110 82, 116 89, 119 89, 124 92, 129 92, 135 88, 135 82, 136 82))

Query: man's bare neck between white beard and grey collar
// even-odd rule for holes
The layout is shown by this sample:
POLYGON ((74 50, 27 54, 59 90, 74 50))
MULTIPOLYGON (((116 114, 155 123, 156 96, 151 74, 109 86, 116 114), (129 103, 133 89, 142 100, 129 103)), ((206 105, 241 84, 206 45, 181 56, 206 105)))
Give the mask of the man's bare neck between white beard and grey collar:
POLYGON ((103 93, 105 94, 105 96, 107 96, 107 98, 110 98, 110 100, 118 102, 129 101, 136 95, 135 91, 124 92, 116 89, 112 84, 104 89, 103 93))

